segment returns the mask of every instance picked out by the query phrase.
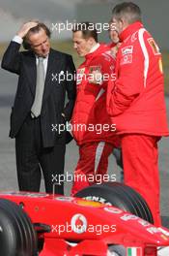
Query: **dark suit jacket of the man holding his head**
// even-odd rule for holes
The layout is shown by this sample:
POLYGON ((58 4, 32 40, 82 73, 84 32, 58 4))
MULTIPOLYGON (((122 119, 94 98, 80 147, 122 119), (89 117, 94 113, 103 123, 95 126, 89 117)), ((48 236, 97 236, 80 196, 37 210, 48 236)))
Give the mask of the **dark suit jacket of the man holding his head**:
MULTIPOLYGON (((31 112, 31 107, 36 91, 36 56, 28 51, 19 52, 20 45, 11 42, 7 48, 3 60, 2 68, 18 75, 17 90, 14 99, 14 107, 11 114, 10 137, 14 138, 19 133, 23 122, 31 112)), ((42 143, 43 146, 53 146, 56 139, 61 136, 56 129, 52 131, 52 124, 63 123, 62 112, 66 119, 70 120, 75 101, 75 67, 69 54, 50 48, 48 56, 47 71, 42 98, 42 143), (53 75, 52 75, 53 74, 53 75), (57 76, 56 76, 57 74, 57 76), (59 74, 71 74, 69 80, 66 78, 59 82, 59 74), (66 94, 68 103, 65 106, 66 94)))

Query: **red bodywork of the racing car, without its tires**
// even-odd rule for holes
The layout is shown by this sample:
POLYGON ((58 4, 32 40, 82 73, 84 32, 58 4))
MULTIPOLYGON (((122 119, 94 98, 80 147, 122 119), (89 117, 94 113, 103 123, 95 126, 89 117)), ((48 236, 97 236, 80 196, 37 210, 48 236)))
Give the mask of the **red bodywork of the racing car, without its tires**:
POLYGON ((169 246, 169 231, 120 208, 83 199, 29 192, 1 192, 27 212, 32 223, 50 226, 40 256, 107 255, 108 246, 140 248, 139 255, 157 255, 157 246, 169 246))

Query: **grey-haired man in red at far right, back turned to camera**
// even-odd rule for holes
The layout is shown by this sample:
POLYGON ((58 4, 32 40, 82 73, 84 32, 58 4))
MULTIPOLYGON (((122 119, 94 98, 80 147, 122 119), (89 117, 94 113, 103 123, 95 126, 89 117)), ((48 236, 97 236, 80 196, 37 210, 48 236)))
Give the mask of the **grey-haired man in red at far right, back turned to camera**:
POLYGON ((137 190, 160 225, 157 142, 168 136, 161 54, 131 2, 113 9, 119 32, 117 80, 110 80, 107 110, 122 139, 125 183, 137 190))

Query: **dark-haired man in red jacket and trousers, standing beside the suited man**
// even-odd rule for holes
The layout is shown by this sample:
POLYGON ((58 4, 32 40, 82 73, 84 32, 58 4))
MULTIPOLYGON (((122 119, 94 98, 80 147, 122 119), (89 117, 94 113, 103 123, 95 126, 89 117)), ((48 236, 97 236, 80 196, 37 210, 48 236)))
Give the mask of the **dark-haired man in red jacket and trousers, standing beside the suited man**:
POLYGON ((108 156, 119 144, 116 127, 106 111, 107 83, 114 79, 115 59, 110 48, 99 45, 97 30, 91 25, 77 24, 72 31, 74 48, 85 61, 77 69, 77 98, 71 118, 73 137, 79 145, 71 194, 107 181, 108 156))

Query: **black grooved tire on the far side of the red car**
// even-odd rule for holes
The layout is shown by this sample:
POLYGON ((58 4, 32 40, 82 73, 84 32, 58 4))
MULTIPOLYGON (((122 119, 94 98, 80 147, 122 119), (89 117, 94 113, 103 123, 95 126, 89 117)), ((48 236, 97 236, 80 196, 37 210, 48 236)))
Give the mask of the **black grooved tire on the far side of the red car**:
POLYGON ((74 196, 121 208, 152 224, 154 223, 146 201, 136 191, 123 183, 105 182, 95 184, 84 188, 74 196))

